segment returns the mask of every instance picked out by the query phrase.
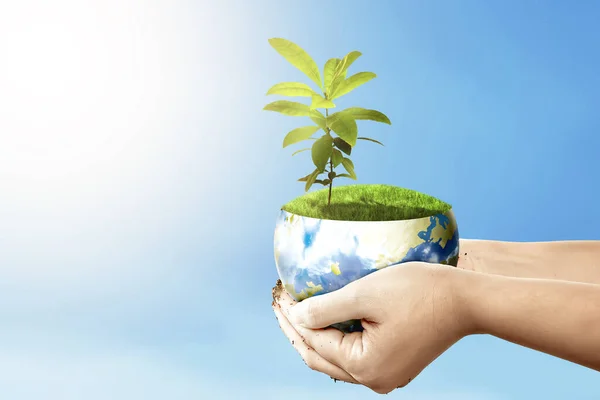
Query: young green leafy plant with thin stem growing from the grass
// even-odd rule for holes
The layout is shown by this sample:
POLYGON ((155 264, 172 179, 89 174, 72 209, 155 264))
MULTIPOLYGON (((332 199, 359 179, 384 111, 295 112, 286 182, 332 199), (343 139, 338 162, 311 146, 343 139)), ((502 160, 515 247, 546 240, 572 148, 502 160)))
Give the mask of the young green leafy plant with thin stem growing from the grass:
POLYGON ((342 59, 331 58, 327 60, 323 68, 323 80, 321 72, 308 53, 300 46, 286 39, 269 39, 271 46, 281 54, 290 64, 308 76, 320 89, 321 93, 315 92, 310 86, 300 82, 282 82, 269 89, 267 95, 276 94, 290 97, 308 97, 311 104, 306 105, 295 101, 278 100, 267 104, 264 110, 275 111, 293 117, 309 117, 316 125, 308 125, 296 128, 289 132, 283 139, 283 147, 302 142, 314 140, 312 147, 298 150, 292 156, 306 150, 311 150, 312 161, 315 169, 310 174, 298 179, 306 182, 304 191, 307 192, 315 184, 329 186, 329 197, 327 204, 331 204, 331 188, 336 178, 350 178, 356 180, 354 163, 349 156, 356 146, 357 140, 368 140, 383 146, 383 143, 367 137, 358 136, 357 120, 371 120, 391 125, 390 119, 376 110, 368 110, 360 107, 350 107, 329 115, 329 110, 336 108, 333 100, 340 98, 357 87, 365 84, 376 75, 373 72, 358 72, 348 78, 346 73, 348 67, 362 54, 351 51, 342 59), (323 114, 319 109, 325 110, 323 114), (321 137, 313 135, 321 130, 321 137), (346 156, 344 156, 344 154, 346 156), (335 168, 340 164, 346 170, 338 174, 335 168), (325 179, 319 179, 321 174, 327 174, 325 179))

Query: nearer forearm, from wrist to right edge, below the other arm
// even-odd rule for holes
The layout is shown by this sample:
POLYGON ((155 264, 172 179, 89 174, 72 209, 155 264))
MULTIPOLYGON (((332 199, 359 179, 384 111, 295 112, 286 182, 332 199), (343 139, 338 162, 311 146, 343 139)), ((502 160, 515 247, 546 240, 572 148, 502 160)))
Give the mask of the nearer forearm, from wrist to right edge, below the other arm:
POLYGON ((471 333, 600 371, 600 285, 456 271, 471 333))

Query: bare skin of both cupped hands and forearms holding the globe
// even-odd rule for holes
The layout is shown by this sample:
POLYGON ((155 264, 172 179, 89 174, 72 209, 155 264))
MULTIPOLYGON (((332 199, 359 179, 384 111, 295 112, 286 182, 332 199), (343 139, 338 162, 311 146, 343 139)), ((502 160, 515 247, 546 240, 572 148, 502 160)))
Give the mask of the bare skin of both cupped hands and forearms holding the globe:
POLYGON ((472 256, 459 268, 405 263, 301 303, 284 291, 273 309, 311 369, 377 393, 407 385, 473 334, 494 335, 600 371, 600 285, 594 284, 600 265, 594 267, 592 260, 600 248, 572 243, 570 257, 570 247, 560 243, 468 241, 463 248, 461 242, 461 255, 472 256), (551 250, 554 256, 534 250, 551 250), (561 271, 561 263, 570 272, 561 271), (327 328, 349 319, 361 319, 364 331, 344 335, 327 328))

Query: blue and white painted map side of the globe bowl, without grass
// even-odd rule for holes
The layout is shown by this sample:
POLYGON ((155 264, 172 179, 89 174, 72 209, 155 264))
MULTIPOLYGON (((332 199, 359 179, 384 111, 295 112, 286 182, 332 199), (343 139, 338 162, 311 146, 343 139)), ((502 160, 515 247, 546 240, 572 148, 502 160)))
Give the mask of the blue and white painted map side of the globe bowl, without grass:
POLYGON ((379 269, 408 261, 458 262, 452 210, 403 221, 335 221, 281 210, 275 226, 275 263, 297 301, 340 289, 379 269))

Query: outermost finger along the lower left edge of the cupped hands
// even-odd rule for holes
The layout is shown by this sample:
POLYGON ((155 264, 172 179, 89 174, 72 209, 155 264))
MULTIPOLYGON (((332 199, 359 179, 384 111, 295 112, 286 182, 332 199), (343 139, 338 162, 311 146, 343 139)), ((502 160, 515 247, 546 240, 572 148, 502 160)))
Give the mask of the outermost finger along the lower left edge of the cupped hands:
POLYGON ((298 334, 294 327, 287 320, 286 316, 281 312, 278 306, 273 307, 273 311, 279 321, 279 326, 283 333, 292 343, 292 346, 300 354, 304 363, 312 370, 322 372, 329 375, 334 380, 344 381, 348 383, 358 383, 350 374, 340 367, 332 364, 323 358, 318 352, 307 345, 304 339, 298 334))

